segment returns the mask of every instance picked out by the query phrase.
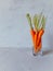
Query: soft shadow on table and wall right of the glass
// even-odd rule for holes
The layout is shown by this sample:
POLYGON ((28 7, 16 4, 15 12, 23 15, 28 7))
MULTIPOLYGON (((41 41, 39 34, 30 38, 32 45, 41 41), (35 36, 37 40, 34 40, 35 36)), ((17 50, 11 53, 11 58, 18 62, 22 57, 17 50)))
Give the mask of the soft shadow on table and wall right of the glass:
POLYGON ((52 34, 49 34, 49 36, 48 36, 48 43, 49 43, 50 49, 44 50, 43 55, 53 54, 53 35, 52 34))

